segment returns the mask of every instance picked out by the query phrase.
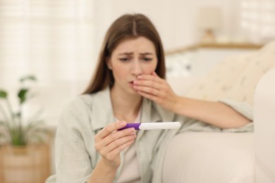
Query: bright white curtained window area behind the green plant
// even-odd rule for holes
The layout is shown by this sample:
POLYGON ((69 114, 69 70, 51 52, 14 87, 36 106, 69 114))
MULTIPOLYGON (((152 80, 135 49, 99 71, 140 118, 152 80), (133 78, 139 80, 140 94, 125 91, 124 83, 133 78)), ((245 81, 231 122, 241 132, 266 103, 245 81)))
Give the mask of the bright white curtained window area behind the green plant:
MULTIPOLYGON (((62 103, 82 92, 94 68, 92 0, 1 0, 0 88, 11 92, 18 78, 35 75, 37 98, 25 107, 44 108, 55 123, 62 103)), ((13 94, 13 96, 12 96, 13 94)))

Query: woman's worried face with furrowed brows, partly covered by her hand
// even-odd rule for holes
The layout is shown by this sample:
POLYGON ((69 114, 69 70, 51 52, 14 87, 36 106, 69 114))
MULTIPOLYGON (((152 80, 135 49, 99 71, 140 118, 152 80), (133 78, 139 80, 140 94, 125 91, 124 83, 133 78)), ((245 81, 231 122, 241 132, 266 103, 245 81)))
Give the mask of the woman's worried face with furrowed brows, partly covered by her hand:
POLYGON ((157 53, 153 42, 145 37, 125 39, 116 46, 107 61, 114 75, 113 90, 138 94, 133 81, 138 75, 150 75, 157 68, 157 53))

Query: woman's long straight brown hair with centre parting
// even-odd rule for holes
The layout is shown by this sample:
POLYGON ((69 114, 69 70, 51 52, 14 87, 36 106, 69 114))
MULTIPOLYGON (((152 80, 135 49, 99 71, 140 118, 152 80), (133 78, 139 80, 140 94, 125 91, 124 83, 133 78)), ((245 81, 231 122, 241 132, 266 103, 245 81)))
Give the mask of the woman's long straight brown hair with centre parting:
POLYGON ((99 53, 97 68, 92 80, 83 94, 93 94, 114 85, 113 72, 107 67, 106 61, 119 43, 124 39, 146 37, 154 43, 157 52, 157 68, 155 72, 165 79, 164 48, 157 29, 151 20, 142 14, 125 14, 116 19, 106 32, 102 49, 99 53))

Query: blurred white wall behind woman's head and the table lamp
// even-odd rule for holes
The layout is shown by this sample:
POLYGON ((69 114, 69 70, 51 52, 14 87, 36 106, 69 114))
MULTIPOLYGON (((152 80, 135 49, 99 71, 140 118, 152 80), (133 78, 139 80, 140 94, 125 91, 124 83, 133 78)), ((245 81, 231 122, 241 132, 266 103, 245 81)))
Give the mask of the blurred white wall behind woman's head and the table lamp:
POLYGON ((200 6, 218 6, 223 11, 220 33, 227 37, 238 34, 238 0, 102 0, 94 4, 97 41, 101 42, 111 22, 124 13, 144 13, 156 25, 165 49, 194 44, 197 31, 197 11, 200 6))

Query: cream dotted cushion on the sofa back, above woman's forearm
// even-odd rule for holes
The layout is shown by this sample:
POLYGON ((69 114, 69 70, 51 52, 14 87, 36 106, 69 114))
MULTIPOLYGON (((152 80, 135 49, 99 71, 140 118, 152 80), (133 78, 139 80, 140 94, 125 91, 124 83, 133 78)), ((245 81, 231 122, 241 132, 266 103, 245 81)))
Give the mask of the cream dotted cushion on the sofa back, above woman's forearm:
POLYGON ((275 68, 275 41, 256 53, 221 61, 186 96, 208 101, 228 98, 253 105, 256 84, 271 68, 275 68))

